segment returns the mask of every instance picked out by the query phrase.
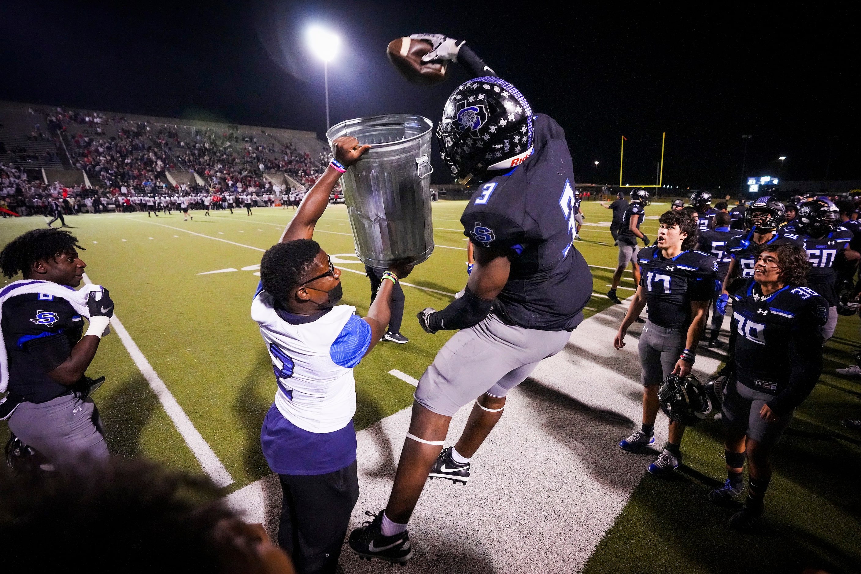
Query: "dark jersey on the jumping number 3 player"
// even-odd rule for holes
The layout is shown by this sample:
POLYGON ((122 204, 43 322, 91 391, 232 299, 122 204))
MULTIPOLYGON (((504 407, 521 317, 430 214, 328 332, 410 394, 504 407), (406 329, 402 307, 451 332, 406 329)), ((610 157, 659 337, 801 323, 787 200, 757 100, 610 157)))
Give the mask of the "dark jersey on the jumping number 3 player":
POLYGON ((537 114, 535 153, 479 186, 461 216, 474 244, 510 250, 494 312, 528 329, 571 330, 592 297, 592 272, 573 246, 574 175, 565 132, 537 114))

